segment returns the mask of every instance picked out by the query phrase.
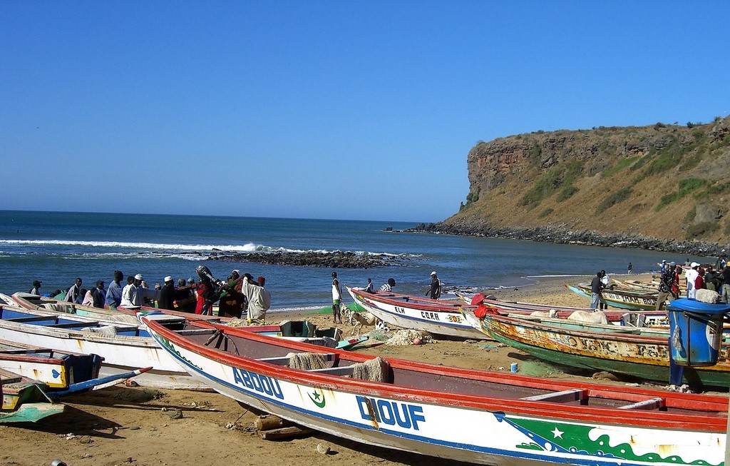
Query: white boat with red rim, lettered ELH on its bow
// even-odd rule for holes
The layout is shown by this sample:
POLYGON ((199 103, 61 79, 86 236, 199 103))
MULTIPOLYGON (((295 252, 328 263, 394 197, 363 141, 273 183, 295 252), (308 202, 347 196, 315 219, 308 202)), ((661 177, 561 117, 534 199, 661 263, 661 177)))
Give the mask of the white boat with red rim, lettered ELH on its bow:
POLYGON ((373 316, 404 329, 423 330, 434 335, 485 340, 487 337, 469 325, 459 313, 462 302, 439 301, 407 294, 376 291, 345 286, 357 305, 373 316))

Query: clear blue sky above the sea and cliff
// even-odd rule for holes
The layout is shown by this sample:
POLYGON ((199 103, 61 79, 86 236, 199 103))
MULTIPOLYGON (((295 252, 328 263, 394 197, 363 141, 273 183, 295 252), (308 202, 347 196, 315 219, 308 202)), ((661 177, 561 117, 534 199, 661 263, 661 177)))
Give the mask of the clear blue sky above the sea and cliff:
POLYGON ((441 221, 477 141, 730 111, 726 1, 0 2, 3 209, 441 221))

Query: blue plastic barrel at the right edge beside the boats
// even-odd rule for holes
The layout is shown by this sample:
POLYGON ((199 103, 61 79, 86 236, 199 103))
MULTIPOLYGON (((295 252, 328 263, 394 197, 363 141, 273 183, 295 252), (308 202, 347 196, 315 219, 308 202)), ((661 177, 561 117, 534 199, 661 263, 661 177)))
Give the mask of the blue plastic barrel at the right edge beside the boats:
POLYGON ((713 366, 723 337, 723 316, 730 305, 680 298, 669 303, 669 351, 680 366, 713 366))

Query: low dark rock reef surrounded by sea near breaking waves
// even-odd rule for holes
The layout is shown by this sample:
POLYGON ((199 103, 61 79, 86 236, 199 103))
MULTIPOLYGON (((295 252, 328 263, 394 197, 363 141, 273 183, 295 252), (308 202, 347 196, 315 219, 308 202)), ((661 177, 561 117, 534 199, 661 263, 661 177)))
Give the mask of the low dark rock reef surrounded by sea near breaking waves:
POLYGON ((272 265, 304 265, 307 267, 328 267, 331 269, 369 269, 399 265, 405 259, 402 256, 386 254, 357 254, 353 252, 320 252, 307 251, 269 252, 269 253, 211 253, 210 260, 223 262, 255 262, 272 265))

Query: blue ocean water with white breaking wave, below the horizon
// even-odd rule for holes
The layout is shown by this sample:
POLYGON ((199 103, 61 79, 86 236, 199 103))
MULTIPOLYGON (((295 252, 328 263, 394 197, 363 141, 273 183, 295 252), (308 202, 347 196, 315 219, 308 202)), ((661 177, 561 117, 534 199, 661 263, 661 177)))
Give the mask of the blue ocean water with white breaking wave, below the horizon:
MULTIPOLYGON (((334 270, 236 264, 206 260, 208 255, 214 251, 391 254, 398 265, 337 269, 337 275, 348 286, 365 286, 372 278, 377 288, 394 278, 393 291, 406 294, 425 294, 432 270, 447 292, 472 294, 529 286, 545 277, 575 282, 578 276, 599 270, 623 274, 629 262, 634 274, 656 272, 662 259, 682 263, 687 259, 658 251, 403 232, 415 226, 410 222, 0 210, 0 226, 0 292, 5 294, 28 291, 33 280, 42 280, 43 293, 66 290, 77 277, 84 288, 96 280, 108 285, 114 270, 121 270, 125 278, 141 273, 153 286, 166 275, 197 279, 195 269, 204 264, 221 280, 233 269, 266 277, 272 311, 330 305, 334 270), (388 227, 393 231, 386 231, 388 227)), ((345 302, 351 302, 349 296, 345 302)))

